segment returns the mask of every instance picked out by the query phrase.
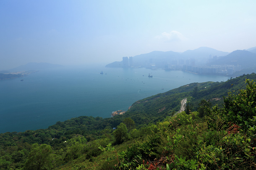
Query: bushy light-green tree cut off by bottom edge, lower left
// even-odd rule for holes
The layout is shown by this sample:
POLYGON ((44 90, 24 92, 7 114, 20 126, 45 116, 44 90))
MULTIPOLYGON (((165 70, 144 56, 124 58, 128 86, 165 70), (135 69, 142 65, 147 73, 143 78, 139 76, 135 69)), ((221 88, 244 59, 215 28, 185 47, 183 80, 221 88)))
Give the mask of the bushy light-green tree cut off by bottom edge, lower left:
POLYGON ((32 145, 24 170, 50 170, 52 169, 52 148, 50 145, 35 143, 32 145))

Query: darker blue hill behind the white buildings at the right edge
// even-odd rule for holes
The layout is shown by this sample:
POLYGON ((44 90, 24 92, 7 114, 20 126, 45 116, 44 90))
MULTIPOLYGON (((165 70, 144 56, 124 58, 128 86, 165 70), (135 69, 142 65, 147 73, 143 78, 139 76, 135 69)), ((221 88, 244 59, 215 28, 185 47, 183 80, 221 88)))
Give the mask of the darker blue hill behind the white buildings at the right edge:
POLYGON ((240 65, 243 68, 255 67, 256 53, 251 53, 246 50, 236 50, 227 56, 217 58, 216 61, 208 63, 209 65, 240 65))

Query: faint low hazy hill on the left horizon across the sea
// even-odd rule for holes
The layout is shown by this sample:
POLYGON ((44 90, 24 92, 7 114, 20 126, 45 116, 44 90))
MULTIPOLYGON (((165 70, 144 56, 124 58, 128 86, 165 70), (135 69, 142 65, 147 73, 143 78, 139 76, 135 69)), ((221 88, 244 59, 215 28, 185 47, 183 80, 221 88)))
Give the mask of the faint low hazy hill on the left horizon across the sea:
POLYGON ((50 63, 27 63, 25 65, 18 66, 8 71, 43 70, 43 69, 53 69, 57 67, 62 67, 62 66, 59 64, 50 64, 50 63))

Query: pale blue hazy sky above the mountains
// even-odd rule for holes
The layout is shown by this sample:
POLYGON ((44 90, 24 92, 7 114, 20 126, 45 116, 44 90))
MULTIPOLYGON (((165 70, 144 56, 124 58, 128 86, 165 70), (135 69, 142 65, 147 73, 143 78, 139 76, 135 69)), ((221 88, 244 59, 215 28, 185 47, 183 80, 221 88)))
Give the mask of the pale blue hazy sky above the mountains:
POLYGON ((0 70, 256 46, 256 0, 0 0, 0 70))

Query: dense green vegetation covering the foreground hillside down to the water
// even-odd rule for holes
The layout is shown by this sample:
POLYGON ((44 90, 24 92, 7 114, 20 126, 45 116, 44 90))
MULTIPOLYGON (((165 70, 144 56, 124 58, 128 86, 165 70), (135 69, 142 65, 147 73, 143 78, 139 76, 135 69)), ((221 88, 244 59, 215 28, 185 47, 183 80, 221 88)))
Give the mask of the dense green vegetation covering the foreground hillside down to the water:
POLYGON ((250 79, 256 74, 188 84, 136 101, 124 115, 0 134, 0 169, 255 169, 250 79), (185 112, 172 117, 184 98, 185 112))

